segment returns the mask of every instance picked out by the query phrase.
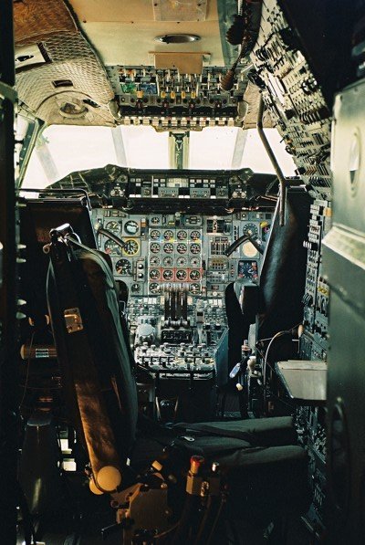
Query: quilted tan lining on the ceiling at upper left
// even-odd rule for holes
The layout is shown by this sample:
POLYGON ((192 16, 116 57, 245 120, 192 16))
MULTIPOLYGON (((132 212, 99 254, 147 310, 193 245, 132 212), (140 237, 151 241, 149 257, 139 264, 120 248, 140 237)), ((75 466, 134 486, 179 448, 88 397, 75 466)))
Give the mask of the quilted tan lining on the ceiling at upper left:
POLYGON ((23 11, 16 12, 17 43, 27 42, 31 47, 31 42, 36 41, 46 62, 17 72, 19 100, 48 124, 115 125, 110 112, 114 93, 105 68, 78 31, 66 5, 60 0, 25 0, 25 3, 23 11), (44 11, 42 7, 45 7, 44 11), (48 8, 52 7, 54 12, 49 14, 52 9, 48 8), (24 23, 22 17, 26 13, 31 14, 29 20, 33 27, 29 25, 26 35, 20 37, 24 23), (39 40, 42 36, 43 39, 39 40), (73 110, 74 115, 65 116, 64 108, 73 110))

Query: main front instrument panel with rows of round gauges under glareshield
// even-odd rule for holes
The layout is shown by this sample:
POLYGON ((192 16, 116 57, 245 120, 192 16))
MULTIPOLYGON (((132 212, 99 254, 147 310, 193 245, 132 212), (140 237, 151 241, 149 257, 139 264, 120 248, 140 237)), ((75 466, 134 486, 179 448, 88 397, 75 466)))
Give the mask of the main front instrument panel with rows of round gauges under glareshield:
POLYGON ((162 294, 164 285, 183 283, 191 296, 224 296, 236 278, 259 277, 262 255, 245 241, 230 257, 227 248, 240 236, 255 238, 263 248, 271 212, 242 211, 227 215, 131 214, 95 208, 94 224, 103 226, 122 245, 98 235, 99 248, 110 255, 114 276, 131 296, 162 294))

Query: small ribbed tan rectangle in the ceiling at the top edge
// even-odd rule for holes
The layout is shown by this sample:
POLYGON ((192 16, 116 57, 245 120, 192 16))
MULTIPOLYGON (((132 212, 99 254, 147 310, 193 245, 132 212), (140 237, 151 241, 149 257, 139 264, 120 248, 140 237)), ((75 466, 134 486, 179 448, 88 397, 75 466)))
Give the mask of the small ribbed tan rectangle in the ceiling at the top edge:
POLYGON ((155 21, 205 21, 206 0, 152 0, 155 21))

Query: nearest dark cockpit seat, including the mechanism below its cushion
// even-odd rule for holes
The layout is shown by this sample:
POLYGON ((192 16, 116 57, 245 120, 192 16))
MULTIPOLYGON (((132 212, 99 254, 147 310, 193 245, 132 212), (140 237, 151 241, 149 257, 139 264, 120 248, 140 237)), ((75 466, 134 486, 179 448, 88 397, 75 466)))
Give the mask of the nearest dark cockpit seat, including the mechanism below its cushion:
MULTIPOLYGON (((81 244, 69 225, 51 230, 49 249, 47 301, 68 419, 89 460, 90 489, 113 498, 122 542, 137 539, 142 528, 145 538, 163 534, 165 542, 180 543, 193 524, 192 542, 222 542, 218 526, 212 533, 207 504, 202 515, 202 501, 211 496, 220 498, 215 522, 266 525, 304 512, 308 458, 291 417, 165 427, 139 415, 138 369, 106 256, 81 244), (143 495, 156 486, 167 499, 143 495)), ((281 533, 278 542, 285 542, 281 533)))

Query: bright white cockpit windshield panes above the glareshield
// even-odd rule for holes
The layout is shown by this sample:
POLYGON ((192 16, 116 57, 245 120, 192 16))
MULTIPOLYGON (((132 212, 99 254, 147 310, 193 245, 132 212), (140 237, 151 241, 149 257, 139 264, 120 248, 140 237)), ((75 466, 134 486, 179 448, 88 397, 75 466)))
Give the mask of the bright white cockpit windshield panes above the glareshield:
MULTIPOLYGON (((169 131, 149 126, 80 127, 52 125, 38 138, 30 158, 23 187, 42 188, 68 173, 106 164, 141 169, 174 168, 169 131)), ((286 176, 295 164, 285 151, 276 129, 266 129, 276 159, 286 176)), ((182 133, 183 168, 231 170, 251 168, 256 173, 274 173, 257 131, 237 127, 207 127, 182 133)))

